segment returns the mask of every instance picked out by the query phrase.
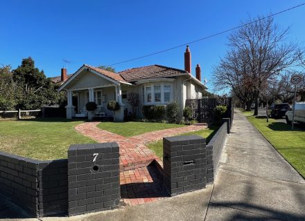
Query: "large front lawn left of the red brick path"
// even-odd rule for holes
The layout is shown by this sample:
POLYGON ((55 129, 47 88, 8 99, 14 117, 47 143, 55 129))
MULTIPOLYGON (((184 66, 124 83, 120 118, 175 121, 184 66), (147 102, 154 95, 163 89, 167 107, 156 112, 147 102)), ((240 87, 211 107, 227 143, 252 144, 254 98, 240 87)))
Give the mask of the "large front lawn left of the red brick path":
POLYGON ((74 130, 80 123, 66 119, 0 122, 0 151, 37 160, 66 158, 71 144, 95 143, 74 130))

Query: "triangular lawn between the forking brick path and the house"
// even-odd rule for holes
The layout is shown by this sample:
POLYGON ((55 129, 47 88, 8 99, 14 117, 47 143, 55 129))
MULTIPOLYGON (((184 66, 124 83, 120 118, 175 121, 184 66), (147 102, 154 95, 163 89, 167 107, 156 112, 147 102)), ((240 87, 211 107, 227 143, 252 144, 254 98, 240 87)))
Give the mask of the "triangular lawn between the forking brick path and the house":
POLYGON ((182 126, 184 125, 150 122, 103 122, 98 124, 98 128, 122 135, 124 137, 132 137, 141 133, 159 131, 168 128, 177 128, 182 126))

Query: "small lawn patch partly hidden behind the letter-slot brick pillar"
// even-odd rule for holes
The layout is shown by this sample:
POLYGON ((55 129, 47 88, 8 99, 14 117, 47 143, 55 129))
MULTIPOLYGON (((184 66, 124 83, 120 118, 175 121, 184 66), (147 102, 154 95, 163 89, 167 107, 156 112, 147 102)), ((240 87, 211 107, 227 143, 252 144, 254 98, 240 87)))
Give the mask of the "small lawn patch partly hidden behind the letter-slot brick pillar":
MULTIPOLYGON (((200 135, 201 137, 207 138, 207 144, 211 140, 211 138, 214 136, 214 134, 217 132, 219 126, 210 126, 207 129, 203 129, 200 131, 194 131, 189 133, 183 133, 181 135, 200 135)), ((163 140, 159 140, 157 142, 151 142, 147 145, 150 150, 152 150, 155 155, 157 155, 161 160, 163 160, 163 140)))

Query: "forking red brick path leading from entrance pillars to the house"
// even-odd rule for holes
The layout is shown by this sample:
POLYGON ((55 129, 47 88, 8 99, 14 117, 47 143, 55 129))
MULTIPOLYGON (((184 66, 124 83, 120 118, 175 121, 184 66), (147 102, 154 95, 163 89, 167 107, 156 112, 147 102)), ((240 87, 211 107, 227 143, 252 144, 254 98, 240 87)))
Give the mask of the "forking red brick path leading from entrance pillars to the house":
POLYGON ((163 137, 207 128, 206 124, 196 124, 143 133, 134 137, 123 137, 101 130, 96 127, 99 123, 85 122, 78 124, 75 129, 82 135, 90 137, 97 142, 117 142, 119 144, 121 198, 123 202, 130 205, 152 202, 167 196, 162 184, 159 182, 155 166, 148 166, 154 160, 159 162, 161 166, 162 162, 145 144, 161 140, 163 137))

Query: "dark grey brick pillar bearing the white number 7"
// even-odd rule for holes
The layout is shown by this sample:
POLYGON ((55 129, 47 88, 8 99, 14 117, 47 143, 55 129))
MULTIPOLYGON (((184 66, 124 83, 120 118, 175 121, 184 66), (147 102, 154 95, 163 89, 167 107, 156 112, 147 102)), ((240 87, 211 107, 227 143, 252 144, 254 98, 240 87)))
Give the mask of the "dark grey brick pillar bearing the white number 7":
POLYGON ((68 151, 68 213, 78 215, 119 205, 119 146, 72 145, 68 151))

